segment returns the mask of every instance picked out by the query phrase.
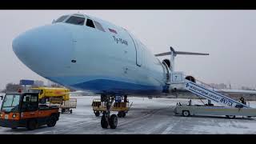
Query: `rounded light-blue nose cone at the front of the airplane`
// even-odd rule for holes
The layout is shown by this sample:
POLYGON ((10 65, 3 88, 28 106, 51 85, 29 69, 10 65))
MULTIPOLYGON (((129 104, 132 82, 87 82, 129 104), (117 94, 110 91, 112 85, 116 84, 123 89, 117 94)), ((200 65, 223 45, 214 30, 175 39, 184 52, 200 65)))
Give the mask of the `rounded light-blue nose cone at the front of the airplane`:
POLYGON ((14 54, 31 70, 45 75, 70 62, 72 35, 63 25, 41 26, 14 38, 14 54))

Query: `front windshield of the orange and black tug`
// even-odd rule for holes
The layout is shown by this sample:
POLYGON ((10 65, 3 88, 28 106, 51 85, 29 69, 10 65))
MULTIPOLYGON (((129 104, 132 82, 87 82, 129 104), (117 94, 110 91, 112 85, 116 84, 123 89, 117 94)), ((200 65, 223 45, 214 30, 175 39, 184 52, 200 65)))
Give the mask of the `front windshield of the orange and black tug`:
POLYGON ((2 111, 18 112, 20 97, 20 95, 6 95, 2 101, 2 111))

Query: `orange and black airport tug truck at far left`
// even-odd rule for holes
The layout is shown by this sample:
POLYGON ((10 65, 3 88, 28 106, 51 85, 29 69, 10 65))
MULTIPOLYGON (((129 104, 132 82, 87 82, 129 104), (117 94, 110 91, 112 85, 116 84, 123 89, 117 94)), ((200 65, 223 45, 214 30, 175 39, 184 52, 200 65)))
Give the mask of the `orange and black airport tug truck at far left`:
POLYGON ((53 127, 60 113, 58 106, 39 105, 38 93, 6 93, 0 111, 0 126, 34 130, 41 125, 53 127))

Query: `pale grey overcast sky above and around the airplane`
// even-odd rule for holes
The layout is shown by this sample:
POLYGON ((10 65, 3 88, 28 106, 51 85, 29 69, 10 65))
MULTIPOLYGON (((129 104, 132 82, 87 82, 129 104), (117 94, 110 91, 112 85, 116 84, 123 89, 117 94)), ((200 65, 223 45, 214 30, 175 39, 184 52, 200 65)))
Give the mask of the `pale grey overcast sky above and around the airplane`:
MULTIPOLYGON (((46 79, 15 56, 11 43, 30 28, 78 10, 0 10, 0 89, 20 79, 46 79)), ((175 69, 207 83, 256 86, 255 10, 79 10, 130 30, 154 53, 210 53, 176 57, 175 69)))

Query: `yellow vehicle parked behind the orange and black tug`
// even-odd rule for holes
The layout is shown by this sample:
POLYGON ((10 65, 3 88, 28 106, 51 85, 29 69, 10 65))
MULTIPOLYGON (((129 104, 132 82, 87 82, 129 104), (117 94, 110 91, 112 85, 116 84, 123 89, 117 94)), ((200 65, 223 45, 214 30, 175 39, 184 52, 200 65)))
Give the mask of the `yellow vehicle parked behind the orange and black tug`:
POLYGON ((59 98, 62 101, 67 101, 70 99, 70 90, 66 88, 37 87, 30 88, 30 91, 39 93, 38 99, 40 103, 46 103, 47 101, 50 101, 50 98, 59 98))

